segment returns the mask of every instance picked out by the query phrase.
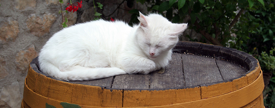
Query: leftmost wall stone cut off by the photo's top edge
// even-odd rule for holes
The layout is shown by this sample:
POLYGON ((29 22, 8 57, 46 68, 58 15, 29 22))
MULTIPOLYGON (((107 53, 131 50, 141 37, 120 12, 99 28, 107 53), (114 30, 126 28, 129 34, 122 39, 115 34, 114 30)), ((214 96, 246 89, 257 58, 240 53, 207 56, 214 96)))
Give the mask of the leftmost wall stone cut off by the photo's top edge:
POLYGON ((36 0, 14 0, 14 5, 16 9, 24 10, 27 7, 35 7, 36 0))

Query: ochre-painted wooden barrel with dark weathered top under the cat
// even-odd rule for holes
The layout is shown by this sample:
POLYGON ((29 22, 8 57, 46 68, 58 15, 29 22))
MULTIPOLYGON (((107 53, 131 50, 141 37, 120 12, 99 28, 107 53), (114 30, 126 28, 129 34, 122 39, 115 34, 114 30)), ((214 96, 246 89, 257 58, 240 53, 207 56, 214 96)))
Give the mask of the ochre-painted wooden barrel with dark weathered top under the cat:
POLYGON ((257 59, 236 49, 180 41, 170 64, 150 74, 61 81, 29 64, 21 107, 262 107, 257 59))

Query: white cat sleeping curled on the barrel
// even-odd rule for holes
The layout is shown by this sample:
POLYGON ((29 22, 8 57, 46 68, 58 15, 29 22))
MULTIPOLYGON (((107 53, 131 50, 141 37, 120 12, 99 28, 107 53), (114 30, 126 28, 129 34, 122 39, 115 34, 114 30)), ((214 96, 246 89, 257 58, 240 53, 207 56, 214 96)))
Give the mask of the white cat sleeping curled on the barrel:
POLYGON ((168 65, 187 24, 140 13, 139 25, 90 21, 55 33, 39 54, 42 72, 61 80, 93 80, 120 74, 148 74, 168 65))

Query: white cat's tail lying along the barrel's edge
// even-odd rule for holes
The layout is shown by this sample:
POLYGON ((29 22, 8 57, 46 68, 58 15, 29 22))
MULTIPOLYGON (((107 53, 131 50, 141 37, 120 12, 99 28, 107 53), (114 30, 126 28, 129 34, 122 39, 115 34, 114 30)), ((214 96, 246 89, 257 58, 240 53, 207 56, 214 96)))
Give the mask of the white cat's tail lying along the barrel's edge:
POLYGON ((54 78, 66 81, 94 80, 115 75, 127 74, 124 70, 117 67, 90 68, 76 65, 72 67, 71 71, 68 72, 61 72, 52 63, 43 63, 43 67, 41 68, 42 72, 45 72, 46 74, 53 76, 54 78), (43 67, 47 67, 47 69, 43 67))

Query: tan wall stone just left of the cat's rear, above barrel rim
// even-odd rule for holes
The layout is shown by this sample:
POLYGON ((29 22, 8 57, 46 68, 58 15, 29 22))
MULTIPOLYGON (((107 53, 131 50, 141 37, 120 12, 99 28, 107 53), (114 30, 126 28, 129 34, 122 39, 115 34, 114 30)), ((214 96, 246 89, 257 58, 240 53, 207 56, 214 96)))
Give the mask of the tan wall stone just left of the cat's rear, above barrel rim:
POLYGON ((16 69, 18 72, 25 73, 28 69, 28 64, 37 56, 34 45, 31 45, 27 50, 22 50, 15 57, 16 69))

